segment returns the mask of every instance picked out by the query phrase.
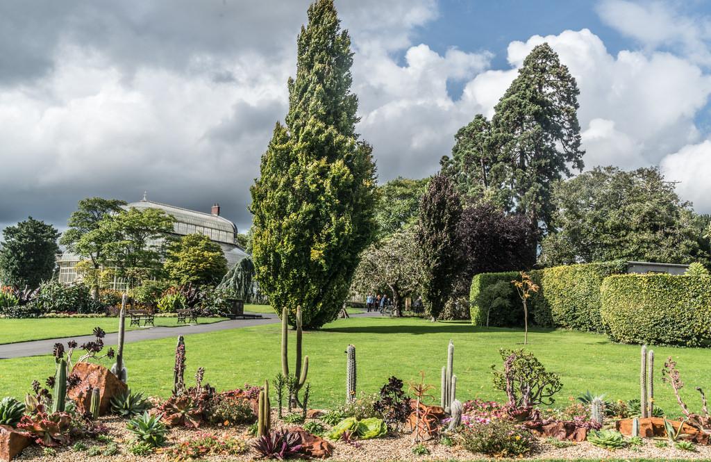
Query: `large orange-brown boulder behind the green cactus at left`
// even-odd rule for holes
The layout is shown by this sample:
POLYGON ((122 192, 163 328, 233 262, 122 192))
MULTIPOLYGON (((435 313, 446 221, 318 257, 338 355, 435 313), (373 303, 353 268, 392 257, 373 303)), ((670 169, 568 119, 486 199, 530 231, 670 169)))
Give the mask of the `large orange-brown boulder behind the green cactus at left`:
POLYGON ((92 389, 98 388, 100 394, 99 415, 108 414, 111 399, 128 389, 109 369, 92 362, 77 362, 72 374, 79 377, 79 384, 68 391, 68 397, 77 404, 77 410, 86 413, 91 407, 92 389))

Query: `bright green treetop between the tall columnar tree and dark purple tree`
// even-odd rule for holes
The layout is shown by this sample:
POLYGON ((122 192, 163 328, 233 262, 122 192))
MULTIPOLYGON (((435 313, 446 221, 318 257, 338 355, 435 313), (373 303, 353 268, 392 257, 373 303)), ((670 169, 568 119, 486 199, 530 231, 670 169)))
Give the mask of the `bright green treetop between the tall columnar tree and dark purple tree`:
POLYGON ((382 238, 417 223, 419 201, 427 190, 429 178, 397 177, 378 187, 375 221, 382 238))

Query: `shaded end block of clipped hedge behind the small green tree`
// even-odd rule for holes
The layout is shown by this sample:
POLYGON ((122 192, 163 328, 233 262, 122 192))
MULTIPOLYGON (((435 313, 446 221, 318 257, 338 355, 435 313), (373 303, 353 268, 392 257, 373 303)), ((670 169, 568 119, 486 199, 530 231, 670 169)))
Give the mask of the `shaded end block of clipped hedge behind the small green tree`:
MULTIPOLYGON (((505 271, 503 273, 480 273, 474 276, 471 280, 471 290, 469 290, 469 314, 471 315, 471 323, 474 325, 486 325, 486 308, 482 308, 476 304, 476 298, 484 288, 489 285, 498 283, 500 280, 509 282, 518 278, 518 271, 505 271)), ((494 308, 489 314, 489 325, 497 327, 511 327, 523 325, 523 305, 520 298, 512 292, 511 306, 518 309, 501 310, 494 308), (517 303, 518 300, 518 303, 517 303)))

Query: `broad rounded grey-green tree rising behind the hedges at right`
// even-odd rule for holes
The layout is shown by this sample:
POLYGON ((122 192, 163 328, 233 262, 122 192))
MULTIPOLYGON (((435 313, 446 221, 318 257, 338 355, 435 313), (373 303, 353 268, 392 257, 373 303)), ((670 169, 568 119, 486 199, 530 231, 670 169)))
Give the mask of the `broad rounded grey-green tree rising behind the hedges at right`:
POLYGON ((555 219, 542 241, 546 265, 594 261, 689 263, 699 230, 690 203, 658 167, 597 167, 555 186, 555 219))

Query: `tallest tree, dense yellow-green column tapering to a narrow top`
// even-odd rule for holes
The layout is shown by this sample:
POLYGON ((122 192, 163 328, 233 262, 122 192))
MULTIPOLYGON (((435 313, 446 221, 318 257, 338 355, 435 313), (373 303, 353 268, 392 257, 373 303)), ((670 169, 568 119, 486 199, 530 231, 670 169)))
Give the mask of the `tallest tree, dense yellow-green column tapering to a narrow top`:
POLYGON ((358 140, 351 38, 332 0, 309 6, 289 79, 286 126, 277 122, 252 186, 252 254, 277 313, 301 306, 304 327, 334 320, 358 254, 372 241, 375 165, 358 140))

